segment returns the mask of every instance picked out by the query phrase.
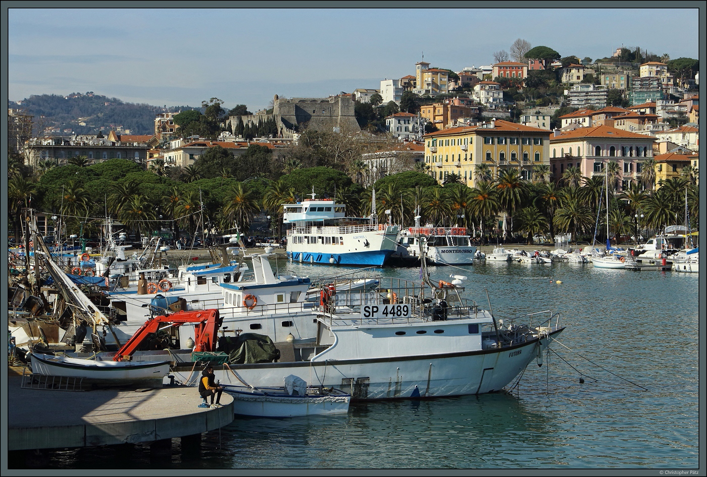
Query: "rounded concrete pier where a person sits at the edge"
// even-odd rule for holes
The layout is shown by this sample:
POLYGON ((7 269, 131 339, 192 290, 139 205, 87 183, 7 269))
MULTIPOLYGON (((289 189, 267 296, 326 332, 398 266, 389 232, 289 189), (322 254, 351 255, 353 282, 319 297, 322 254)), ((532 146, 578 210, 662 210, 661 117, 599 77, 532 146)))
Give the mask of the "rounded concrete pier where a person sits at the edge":
POLYGON ((22 379, 7 381, 9 451, 158 442, 233 421, 231 396, 222 394, 222 408, 199 408, 196 387, 58 391, 23 389, 22 379))

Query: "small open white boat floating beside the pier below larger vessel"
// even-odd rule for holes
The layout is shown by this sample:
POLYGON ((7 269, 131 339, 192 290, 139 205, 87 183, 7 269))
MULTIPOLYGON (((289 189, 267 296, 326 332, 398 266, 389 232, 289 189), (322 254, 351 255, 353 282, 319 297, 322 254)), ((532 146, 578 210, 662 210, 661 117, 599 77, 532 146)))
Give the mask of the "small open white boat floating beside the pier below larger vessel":
POLYGON ((336 388, 308 387, 294 375, 285 378, 283 387, 245 387, 225 384, 233 396, 233 413, 239 416, 291 418, 332 416, 349 412, 351 394, 336 388))

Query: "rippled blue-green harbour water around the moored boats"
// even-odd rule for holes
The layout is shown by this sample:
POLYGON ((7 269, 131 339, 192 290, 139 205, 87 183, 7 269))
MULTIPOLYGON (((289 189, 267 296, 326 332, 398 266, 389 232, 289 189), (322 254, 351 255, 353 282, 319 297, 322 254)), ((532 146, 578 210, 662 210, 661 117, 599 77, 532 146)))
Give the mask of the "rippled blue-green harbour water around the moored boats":
MULTIPOLYGON (((341 269, 278 263, 280 273, 341 269)), ((561 312, 567 329, 503 394, 352 404, 346 416, 237 418, 199 454, 151 461, 146 446, 52 454, 59 469, 696 469, 699 277, 591 264, 433 267, 468 276, 496 317, 561 312), (463 269, 463 270, 462 270, 463 269), (562 283, 556 283, 560 280, 562 283), (583 377, 585 382, 580 384, 583 377)), ((383 269, 418 278, 418 269, 383 269)))

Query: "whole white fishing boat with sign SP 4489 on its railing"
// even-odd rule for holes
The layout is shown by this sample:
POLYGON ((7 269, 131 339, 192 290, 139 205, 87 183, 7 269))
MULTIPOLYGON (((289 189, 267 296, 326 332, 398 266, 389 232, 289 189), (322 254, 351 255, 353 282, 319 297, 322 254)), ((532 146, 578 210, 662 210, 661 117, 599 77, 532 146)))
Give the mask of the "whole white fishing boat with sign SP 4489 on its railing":
MULTIPOLYGON (((564 329, 550 311, 496 319, 462 299, 463 287, 455 283, 383 280, 373 293, 359 292, 356 300, 337 293, 339 303, 320 303, 309 317, 288 320, 293 337, 273 340, 281 351, 276 362, 216 365, 216 377, 223 384, 279 387, 293 374, 363 400, 481 394, 503 389, 533 360, 542 364, 542 353, 564 329), (315 326, 305 334, 308 323, 315 326)), ((239 326, 262 332, 269 321, 239 326)), ((190 363, 173 370, 182 382, 194 372, 190 363)))

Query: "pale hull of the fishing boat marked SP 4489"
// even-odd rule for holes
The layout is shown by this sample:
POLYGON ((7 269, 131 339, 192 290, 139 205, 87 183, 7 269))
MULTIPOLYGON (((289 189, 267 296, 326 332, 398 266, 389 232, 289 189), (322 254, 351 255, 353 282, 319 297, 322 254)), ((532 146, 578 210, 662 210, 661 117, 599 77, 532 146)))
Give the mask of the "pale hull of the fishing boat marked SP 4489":
MULTIPOLYGON (((305 381, 349 392, 355 401, 420 399, 500 391, 549 346, 552 331, 542 341, 534 338, 516 346, 457 353, 386 356, 351 360, 234 365, 215 370, 223 384, 276 386, 282 377, 296 374, 305 381)), ((194 370, 175 370, 189 382, 194 370)))

